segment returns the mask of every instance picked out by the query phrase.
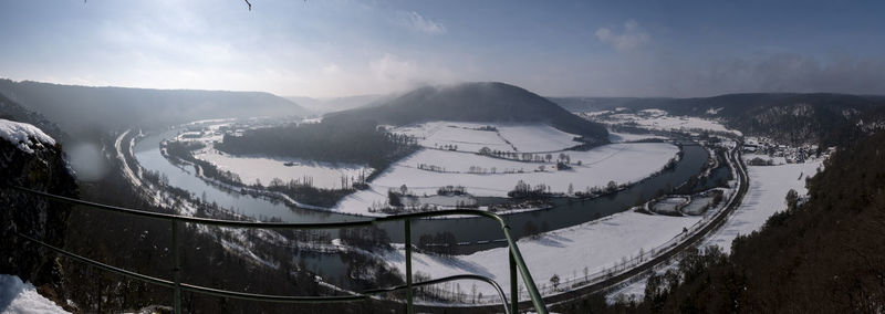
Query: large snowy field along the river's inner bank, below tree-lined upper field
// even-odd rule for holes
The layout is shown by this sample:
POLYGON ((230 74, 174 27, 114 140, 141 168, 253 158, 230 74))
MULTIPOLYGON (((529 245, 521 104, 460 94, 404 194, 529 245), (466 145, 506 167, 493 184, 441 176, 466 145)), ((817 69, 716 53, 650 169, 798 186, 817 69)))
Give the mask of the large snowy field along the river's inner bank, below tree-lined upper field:
POLYGON ((366 214, 373 203, 386 203, 387 189, 403 185, 418 195, 434 195, 439 187, 451 185, 464 186, 475 196, 507 197, 519 180, 532 186, 548 185, 552 192, 568 192, 570 185, 575 191, 582 191, 589 187, 603 187, 608 181, 638 181, 662 169, 676 153, 676 146, 665 143, 612 144, 589 151, 566 151, 573 168, 555 170, 554 164, 550 163, 520 163, 468 153, 423 149, 388 168, 375 178, 369 189, 345 197, 335 209, 366 214), (577 160, 582 161, 581 166, 576 165, 577 160), (418 169, 420 164, 438 166, 447 172, 418 169), (534 171, 542 165, 544 171, 534 171), (494 167, 497 174, 467 174, 471 166, 489 170, 494 167), (502 174, 508 169, 523 172, 502 174))

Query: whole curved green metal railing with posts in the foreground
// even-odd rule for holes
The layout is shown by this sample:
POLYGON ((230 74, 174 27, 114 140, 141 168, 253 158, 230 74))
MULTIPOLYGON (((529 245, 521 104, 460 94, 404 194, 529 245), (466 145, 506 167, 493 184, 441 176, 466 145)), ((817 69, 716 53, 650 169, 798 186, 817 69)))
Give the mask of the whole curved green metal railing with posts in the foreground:
POLYGON ((522 276, 522 281, 525 284, 525 287, 529 292, 529 297, 531 299, 532 305, 534 311, 538 313, 548 313, 546 305, 544 304, 544 300, 541 297, 541 294, 538 291, 538 286, 534 284, 534 280, 532 279, 531 273, 529 272, 529 268, 525 265, 525 262, 522 259, 522 254, 519 251, 519 247, 517 245, 514 239, 510 234, 510 227, 504 222, 504 220, 494 213, 479 211, 479 210, 467 210, 467 209, 452 209, 452 210, 440 210, 440 211, 431 211, 431 212, 416 212, 416 213, 405 213, 405 214, 396 214, 396 216, 387 216, 387 217, 378 217, 367 220, 360 220, 360 221, 348 221, 348 222, 319 222, 319 223, 306 223, 306 222, 256 222, 256 221, 233 221, 233 220, 218 220, 211 218, 198 218, 198 217, 189 217, 189 216, 180 216, 180 214, 171 214, 171 213, 162 213, 162 212, 153 212, 153 211, 144 211, 144 210, 136 210, 96 202, 84 201, 75 198, 69 198, 63 196, 56 196, 43 191, 38 191, 29 188, 23 187, 11 187, 13 189, 45 197, 50 200, 61 201, 71 205, 80 205, 85 206, 87 208, 95 208, 111 212, 131 214, 136 217, 149 218, 149 219, 157 219, 157 220, 165 220, 171 222, 171 238, 173 238, 173 280, 165 280, 159 278, 154 278, 140 273, 136 273, 133 271, 128 271, 125 269, 116 268, 113 265, 104 264, 94 260, 90 260, 87 258, 77 255, 75 253, 67 252, 63 249, 53 247, 49 243, 45 243, 39 239, 34 239, 27 234, 18 233, 19 237, 38 243, 42 247, 45 247, 56 253, 62 255, 72 258, 76 261, 84 262, 92 266, 102 269, 104 271, 117 273, 124 276, 133 278, 139 281, 157 284, 160 286, 170 287, 174 291, 174 308, 175 313, 181 313, 181 291, 189 291, 194 293, 200 294, 208 294, 215 295, 220 297, 230 297, 230 299, 239 299, 239 300, 249 300, 249 301, 260 301, 260 302, 278 302, 278 303, 340 303, 340 302, 354 302, 354 301, 365 301, 375 295, 391 293, 395 291, 406 291, 406 308, 408 313, 414 313, 414 302, 413 302, 413 289, 416 286, 425 286, 425 285, 433 285, 437 283, 448 282, 448 281, 456 281, 456 280, 476 280, 486 282, 494 287, 498 292, 498 295, 501 299, 501 304, 504 307, 506 313, 518 313, 519 312, 519 282, 517 280, 517 272, 522 276), (412 220, 413 219, 421 219, 421 218, 431 218, 431 217, 442 217, 442 216, 476 216, 476 217, 485 217, 490 218, 496 221, 501 227, 501 231, 504 234, 504 238, 508 243, 508 257, 509 257, 509 264, 510 264, 510 302, 508 303, 507 296, 501 290, 501 286, 498 285, 497 282, 493 280, 481 276, 477 274, 460 274, 460 275, 452 275, 446 278, 439 278, 423 282, 413 282, 412 281, 412 220), (405 231, 405 261, 406 261, 406 284, 392 286, 392 287, 384 287, 384 289, 375 289, 375 290, 367 290, 363 292, 354 292, 351 295, 336 295, 336 296, 288 296, 288 295, 269 295, 269 294, 257 294, 257 293, 244 293, 244 292, 236 292, 236 291, 228 291, 228 290, 219 290, 214 287, 207 286, 199 286, 188 283, 181 282, 181 269, 180 269, 180 254, 179 254, 179 243, 178 243, 178 224, 180 222, 185 223, 196 223, 196 224, 205 224, 205 226, 217 226, 217 227, 230 227, 230 228, 247 228, 247 229, 301 229, 301 230, 316 230, 316 229, 337 229, 337 228, 360 228, 360 227, 369 227, 381 222, 389 222, 389 221, 403 221, 403 228, 405 231))

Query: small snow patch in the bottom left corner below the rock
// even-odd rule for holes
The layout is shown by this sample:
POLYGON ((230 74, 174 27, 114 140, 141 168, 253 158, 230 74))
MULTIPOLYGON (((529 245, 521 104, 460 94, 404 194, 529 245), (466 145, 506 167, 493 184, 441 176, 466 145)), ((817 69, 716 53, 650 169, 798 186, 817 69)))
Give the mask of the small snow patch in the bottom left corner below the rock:
POLYGON ((17 275, 0 274, 0 312, 13 313, 70 313, 54 302, 37 293, 30 282, 17 275))

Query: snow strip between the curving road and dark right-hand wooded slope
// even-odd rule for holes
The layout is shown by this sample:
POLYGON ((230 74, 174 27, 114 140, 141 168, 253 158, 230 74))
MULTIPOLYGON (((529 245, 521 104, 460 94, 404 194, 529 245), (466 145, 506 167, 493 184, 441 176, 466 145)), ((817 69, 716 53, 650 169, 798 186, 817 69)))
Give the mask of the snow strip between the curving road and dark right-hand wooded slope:
POLYGON ((705 247, 716 244, 729 252, 735 238, 758 231, 774 212, 787 209, 784 198, 790 189, 800 196, 806 195, 805 178, 814 176, 821 165, 822 161, 818 159, 805 164, 747 167, 750 189, 740 207, 722 228, 707 239, 705 247))

